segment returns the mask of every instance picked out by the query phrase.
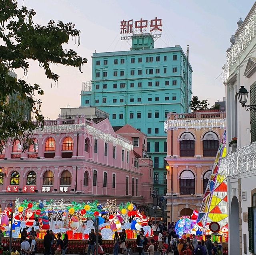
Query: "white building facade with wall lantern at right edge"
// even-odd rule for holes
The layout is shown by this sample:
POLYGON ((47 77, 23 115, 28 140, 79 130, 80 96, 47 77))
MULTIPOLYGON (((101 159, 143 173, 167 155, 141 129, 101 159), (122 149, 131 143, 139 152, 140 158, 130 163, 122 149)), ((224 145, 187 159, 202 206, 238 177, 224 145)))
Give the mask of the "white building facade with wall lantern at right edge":
MULTIPOLYGON (((228 178, 230 254, 256 253, 256 107, 246 111, 237 93, 247 89, 246 105, 256 105, 256 4, 238 29, 227 50, 226 87, 227 156, 222 171, 228 178)), ((248 110, 248 109, 247 109, 248 110)))

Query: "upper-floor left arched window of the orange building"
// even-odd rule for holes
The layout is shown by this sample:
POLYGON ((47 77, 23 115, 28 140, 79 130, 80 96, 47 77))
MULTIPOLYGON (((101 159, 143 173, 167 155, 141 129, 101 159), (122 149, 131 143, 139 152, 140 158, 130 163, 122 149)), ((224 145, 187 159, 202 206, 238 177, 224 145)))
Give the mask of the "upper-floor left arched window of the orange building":
POLYGON ((189 133, 185 132, 180 136, 180 156, 190 157, 195 155, 195 138, 189 133))

